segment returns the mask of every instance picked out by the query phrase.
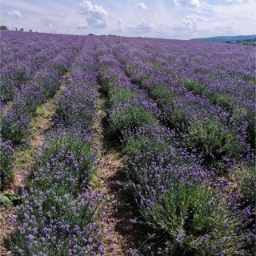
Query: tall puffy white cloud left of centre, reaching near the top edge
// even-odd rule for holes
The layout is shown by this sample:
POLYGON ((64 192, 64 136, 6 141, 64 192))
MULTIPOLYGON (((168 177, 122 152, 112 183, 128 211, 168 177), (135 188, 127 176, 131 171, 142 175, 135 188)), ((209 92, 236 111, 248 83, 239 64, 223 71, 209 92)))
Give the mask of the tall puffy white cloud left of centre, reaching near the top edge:
POLYGON ((102 6, 93 5, 84 1, 79 5, 80 14, 85 15, 88 26, 106 28, 108 26, 108 13, 102 6))

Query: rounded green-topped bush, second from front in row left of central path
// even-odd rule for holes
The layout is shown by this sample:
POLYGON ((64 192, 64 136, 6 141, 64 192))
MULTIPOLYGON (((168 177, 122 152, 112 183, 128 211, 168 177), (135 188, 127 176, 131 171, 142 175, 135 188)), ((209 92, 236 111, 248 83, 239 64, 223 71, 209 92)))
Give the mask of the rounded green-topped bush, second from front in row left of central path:
POLYGON ((47 187, 50 188, 56 182, 58 184, 56 187, 57 194, 63 196, 66 191, 72 190, 74 192, 81 189, 79 186, 85 179, 90 179, 93 170, 94 165, 90 144, 83 140, 82 137, 76 138, 69 132, 59 134, 47 142, 42 156, 35 162, 34 174, 37 177, 37 182, 31 183, 30 186, 35 186, 34 189, 46 190, 47 187), (58 159, 58 163, 56 159, 58 159), (56 164, 58 164, 58 168, 49 170, 48 166, 55 166, 56 164), (41 173, 41 168, 44 168, 49 174, 52 172, 49 180, 45 179, 46 174, 44 172, 41 173), (56 172, 61 170, 63 176, 56 175, 56 172), (69 181, 66 178, 66 175, 69 176, 70 174, 73 175, 74 180, 78 180, 75 186, 72 180, 69 181))

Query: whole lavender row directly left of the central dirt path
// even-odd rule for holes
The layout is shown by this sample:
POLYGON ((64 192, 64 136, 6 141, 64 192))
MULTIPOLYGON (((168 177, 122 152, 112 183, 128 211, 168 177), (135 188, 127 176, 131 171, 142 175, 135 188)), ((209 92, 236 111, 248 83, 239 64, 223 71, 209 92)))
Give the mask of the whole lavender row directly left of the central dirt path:
POLYGON ((14 255, 104 254, 100 196, 88 189, 95 169, 93 138, 97 76, 94 43, 85 40, 56 100, 54 125, 23 190, 14 255))

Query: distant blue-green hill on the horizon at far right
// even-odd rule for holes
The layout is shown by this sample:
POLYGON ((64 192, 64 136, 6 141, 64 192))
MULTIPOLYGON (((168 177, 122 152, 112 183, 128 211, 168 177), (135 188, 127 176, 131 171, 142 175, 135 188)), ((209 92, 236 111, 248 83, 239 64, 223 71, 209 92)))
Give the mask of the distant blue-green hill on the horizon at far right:
POLYGON ((203 42, 227 42, 227 43, 255 42, 256 34, 237 35, 237 36, 218 36, 218 37, 211 37, 211 38, 193 38, 190 40, 203 41, 203 42))

